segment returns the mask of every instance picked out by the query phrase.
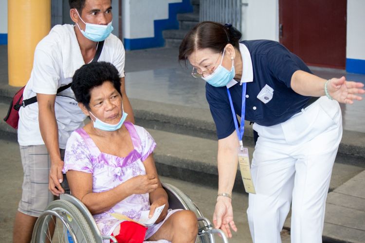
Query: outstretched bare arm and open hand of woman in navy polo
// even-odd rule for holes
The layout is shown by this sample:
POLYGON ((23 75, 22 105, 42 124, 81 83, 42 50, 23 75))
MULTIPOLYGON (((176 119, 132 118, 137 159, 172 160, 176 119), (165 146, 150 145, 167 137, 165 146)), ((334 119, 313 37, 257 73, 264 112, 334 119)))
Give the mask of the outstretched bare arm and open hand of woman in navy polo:
MULTIPOLYGON (((292 89, 301 95, 320 97, 326 95, 326 79, 317 77, 308 72, 298 70, 293 73, 291 80, 292 89)), ((364 94, 362 83, 346 81, 345 77, 332 78, 327 84, 329 95, 336 101, 353 104, 352 100, 361 101, 363 98, 355 94, 364 94)))

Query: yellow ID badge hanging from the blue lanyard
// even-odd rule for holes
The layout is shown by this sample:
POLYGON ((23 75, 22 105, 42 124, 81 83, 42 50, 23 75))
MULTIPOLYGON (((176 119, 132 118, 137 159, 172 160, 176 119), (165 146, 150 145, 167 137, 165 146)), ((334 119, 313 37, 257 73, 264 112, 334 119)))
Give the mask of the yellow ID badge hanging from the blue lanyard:
POLYGON ((256 194, 254 183, 251 177, 251 170, 250 170, 250 159, 248 157, 248 149, 238 147, 238 163, 239 169, 241 170, 241 176, 243 180, 243 185, 245 186, 245 191, 248 193, 256 194))

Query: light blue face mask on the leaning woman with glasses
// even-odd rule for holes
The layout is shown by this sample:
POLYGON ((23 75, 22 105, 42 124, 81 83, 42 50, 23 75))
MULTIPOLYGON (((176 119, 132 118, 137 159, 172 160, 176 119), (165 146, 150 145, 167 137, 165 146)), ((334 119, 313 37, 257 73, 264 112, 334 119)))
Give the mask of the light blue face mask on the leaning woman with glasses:
POLYGON ((228 85, 228 83, 235 77, 235 66, 234 61, 232 60, 232 68, 231 71, 228 71, 222 66, 222 61, 224 57, 224 52, 222 55, 222 60, 220 61, 220 64, 217 69, 213 71, 212 74, 210 74, 208 77, 202 77, 208 84, 214 86, 214 87, 224 87, 228 85))

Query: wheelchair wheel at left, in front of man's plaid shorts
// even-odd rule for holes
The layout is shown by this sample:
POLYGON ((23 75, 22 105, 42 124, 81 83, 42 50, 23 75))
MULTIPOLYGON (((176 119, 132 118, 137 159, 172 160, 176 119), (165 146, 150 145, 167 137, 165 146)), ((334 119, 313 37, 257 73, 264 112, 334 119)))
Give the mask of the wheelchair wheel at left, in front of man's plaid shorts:
POLYGON ((95 243, 84 216, 64 200, 50 203, 39 216, 32 243, 95 243), (55 225, 54 234, 52 234, 55 225))

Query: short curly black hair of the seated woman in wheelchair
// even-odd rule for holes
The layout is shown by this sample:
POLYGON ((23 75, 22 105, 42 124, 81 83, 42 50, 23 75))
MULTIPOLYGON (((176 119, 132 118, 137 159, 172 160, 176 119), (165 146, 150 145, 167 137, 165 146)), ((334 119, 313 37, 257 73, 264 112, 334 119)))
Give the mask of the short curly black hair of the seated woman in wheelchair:
POLYGON ((91 62, 77 69, 71 84, 76 101, 84 104, 90 110, 91 89, 101 86, 104 82, 111 82, 122 96, 119 72, 111 63, 91 62))

